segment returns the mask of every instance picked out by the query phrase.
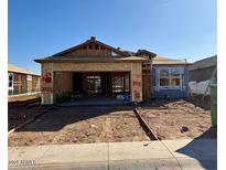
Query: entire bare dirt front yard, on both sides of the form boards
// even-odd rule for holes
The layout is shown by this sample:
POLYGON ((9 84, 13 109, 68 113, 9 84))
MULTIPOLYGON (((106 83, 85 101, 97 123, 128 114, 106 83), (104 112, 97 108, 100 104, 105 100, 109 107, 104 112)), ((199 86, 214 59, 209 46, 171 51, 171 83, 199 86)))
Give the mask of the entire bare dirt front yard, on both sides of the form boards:
MULTIPOLYGON (((37 99, 39 100, 39 99, 37 99)), ((34 103, 10 103, 9 127, 44 109, 34 103), (25 118, 24 118, 25 115, 25 118)), ((9 135, 9 146, 39 146, 150 140, 132 106, 56 107, 9 135)), ((139 108, 160 139, 216 138, 209 100, 153 100, 139 108), (206 102, 207 100, 207 102, 206 102)))

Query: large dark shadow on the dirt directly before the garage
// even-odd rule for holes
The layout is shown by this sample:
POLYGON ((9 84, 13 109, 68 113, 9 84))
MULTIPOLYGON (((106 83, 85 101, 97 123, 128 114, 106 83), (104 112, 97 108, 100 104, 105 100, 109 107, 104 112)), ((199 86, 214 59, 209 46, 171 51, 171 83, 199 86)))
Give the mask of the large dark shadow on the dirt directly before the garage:
POLYGON ((133 110, 134 106, 56 107, 17 131, 58 131, 66 125, 120 110, 133 110))

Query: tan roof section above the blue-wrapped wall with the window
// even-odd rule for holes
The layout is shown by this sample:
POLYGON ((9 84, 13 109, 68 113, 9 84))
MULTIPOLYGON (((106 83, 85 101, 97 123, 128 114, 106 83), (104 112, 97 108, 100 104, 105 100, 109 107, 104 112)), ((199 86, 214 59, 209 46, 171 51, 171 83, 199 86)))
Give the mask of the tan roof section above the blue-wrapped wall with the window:
POLYGON ((187 65, 190 63, 187 63, 185 60, 172 60, 169 57, 155 56, 152 60, 152 64, 154 65, 187 65))

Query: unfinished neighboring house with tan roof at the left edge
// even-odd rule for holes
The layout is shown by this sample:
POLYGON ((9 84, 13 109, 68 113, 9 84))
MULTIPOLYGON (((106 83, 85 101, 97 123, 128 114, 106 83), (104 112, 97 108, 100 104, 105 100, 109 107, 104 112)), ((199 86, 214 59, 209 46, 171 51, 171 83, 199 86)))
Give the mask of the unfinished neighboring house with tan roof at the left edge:
POLYGON ((40 92, 41 76, 13 64, 8 64, 9 95, 40 92))

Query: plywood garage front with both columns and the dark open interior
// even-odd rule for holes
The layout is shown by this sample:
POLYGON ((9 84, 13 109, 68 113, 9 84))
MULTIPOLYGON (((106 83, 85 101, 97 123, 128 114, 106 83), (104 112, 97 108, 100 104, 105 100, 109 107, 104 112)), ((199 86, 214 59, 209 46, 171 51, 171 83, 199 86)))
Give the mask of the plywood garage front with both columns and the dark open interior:
POLYGON ((140 62, 43 63, 42 76, 42 104, 45 105, 118 95, 129 96, 130 102, 142 102, 140 62))

